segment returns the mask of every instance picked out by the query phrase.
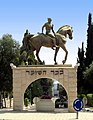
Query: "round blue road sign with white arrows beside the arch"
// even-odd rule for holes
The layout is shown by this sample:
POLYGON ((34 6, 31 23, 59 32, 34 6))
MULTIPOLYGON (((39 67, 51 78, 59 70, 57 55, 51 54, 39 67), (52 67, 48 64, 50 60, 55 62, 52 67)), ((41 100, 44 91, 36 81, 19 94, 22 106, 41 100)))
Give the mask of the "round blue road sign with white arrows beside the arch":
POLYGON ((82 99, 76 99, 74 102, 73 102, 73 108, 76 110, 76 111, 81 111, 82 108, 84 106, 84 103, 83 103, 83 100, 82 99))

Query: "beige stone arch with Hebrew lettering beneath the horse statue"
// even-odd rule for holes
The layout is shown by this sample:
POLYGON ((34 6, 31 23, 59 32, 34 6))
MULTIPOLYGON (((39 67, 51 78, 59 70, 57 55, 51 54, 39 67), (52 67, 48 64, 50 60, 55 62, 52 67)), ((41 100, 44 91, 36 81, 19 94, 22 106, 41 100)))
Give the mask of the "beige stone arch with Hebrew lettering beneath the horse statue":
POLYGON ((13 109, 23 110, 23 97, 26 88, 35 80, 50 78, 59 81, 68 95, 68 110, 74 111, 73 101, 77 98, 76 67, 72 65, 44 65, 13 67, 13 109))

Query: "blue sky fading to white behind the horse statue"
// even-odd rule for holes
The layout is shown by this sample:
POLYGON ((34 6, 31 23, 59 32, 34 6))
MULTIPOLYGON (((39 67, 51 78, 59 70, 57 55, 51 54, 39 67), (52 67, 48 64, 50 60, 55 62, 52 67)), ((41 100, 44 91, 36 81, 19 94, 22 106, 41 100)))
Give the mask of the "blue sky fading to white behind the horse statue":
MULTIPOLYGON (((73 40, 67 39, 66 43, 69 51, 66 63, 75 65, 78 47, 87 40, 89 13, 93 14, 92 0, 1 0, 0 38, 9 33, 21 44, 26 29, 33 34, 41 32, 42 25, 51 17, 55 31, 66 24, 73 27, 73 40)), ((40 51, 40 58, 46 64, 53 64, 53 56, 52 49, 42 48, 40 51)), ((60 48, 59 64, 63 58, 64 51, 60 48)))

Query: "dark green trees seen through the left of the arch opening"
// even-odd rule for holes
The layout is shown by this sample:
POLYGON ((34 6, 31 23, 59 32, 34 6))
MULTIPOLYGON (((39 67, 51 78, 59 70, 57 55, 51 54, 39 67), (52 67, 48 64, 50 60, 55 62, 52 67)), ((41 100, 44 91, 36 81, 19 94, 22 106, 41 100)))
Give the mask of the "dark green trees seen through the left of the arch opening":
POLYGON ((52 96, 52 86, 53 81, 51 79, 48 78, 38 79, 28 86, 24 98, 30 99, 32 104, 34 97, 41 97, 42 95, 45 94, 52 96))

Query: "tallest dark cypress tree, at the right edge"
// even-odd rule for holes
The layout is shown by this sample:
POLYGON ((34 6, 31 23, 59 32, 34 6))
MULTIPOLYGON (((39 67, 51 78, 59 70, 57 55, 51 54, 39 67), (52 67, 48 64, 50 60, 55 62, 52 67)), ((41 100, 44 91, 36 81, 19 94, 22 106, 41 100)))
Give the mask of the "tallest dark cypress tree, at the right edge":
POLYGON ((92 14, 89 13, 88 16, 88 30, 87 30, 87 48, 86 48, 86 58, 85 58, 85 66, 87 67, 84 72, 85 79, 85 91, 87 93, 92 92, 93 84, 92 84, 92 61, 93 61, 93 23, 92 23, 92 14), (86 73, 86 74, 85 74, 86 73))

